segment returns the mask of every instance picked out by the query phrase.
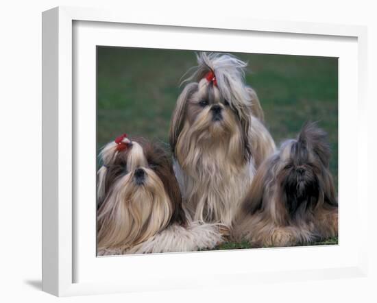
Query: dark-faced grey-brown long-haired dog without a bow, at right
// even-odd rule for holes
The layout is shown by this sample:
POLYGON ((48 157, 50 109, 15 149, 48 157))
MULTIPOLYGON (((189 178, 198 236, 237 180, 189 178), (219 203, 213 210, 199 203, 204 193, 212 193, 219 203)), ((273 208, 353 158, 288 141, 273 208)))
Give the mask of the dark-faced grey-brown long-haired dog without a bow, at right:
POLYGON ((335 237, 338 204, 326 133, 307 123, 296 140, 260 165, 234 223, 234 238, 254 247, 335 237))

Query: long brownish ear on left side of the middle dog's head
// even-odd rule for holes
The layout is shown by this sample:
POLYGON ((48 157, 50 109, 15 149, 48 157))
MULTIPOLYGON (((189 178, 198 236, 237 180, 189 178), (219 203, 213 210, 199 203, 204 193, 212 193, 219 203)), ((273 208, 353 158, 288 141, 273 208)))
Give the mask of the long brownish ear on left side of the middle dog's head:
POLYGON ((195 93, 197 90, 197 83, 190 83, 187 84, 180 97, 178 97, 177 104, 175 105, 175 110, 173 112, 173 116, 171 117, 170 123, 170 130, 169 130, 169 141, 171 151, 175 151, 175 145, 178 141, 178 136, 180 136, 180 132, 182 131, 184 125, 184 117, 186 115, 186 105, 187 101, 189 101, 190 97, 195 93))

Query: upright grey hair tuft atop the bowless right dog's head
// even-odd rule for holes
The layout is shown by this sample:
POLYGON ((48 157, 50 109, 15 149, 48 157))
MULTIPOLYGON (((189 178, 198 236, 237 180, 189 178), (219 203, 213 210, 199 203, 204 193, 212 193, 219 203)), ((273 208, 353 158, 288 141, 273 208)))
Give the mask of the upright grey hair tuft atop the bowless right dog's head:
POLYGON ((317 122, 306 122, 298 135, 297 141, 311 149, 319 160, 328 167, 330 161, 330 144, 327 133, 318 127, 317 122))

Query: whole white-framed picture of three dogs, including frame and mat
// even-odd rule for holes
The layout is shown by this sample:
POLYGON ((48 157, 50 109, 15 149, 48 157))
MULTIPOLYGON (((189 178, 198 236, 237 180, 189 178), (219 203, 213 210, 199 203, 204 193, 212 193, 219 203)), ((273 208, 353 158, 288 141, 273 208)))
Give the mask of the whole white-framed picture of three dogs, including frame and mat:
POLYGON ((364 27, 54 8, 42 37, 44 291, 365 276, 364 27))

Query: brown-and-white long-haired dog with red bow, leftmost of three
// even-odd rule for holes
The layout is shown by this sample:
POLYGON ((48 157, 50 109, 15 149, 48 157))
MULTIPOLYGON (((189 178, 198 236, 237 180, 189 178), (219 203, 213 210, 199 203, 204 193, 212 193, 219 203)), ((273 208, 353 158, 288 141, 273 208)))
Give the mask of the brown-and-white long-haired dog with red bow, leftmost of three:
POLYGON ((122 135, 100 158, 97 254, 186 252, 221 242, 219 225, 186 217, 171 160, 157 144, 122 135))

